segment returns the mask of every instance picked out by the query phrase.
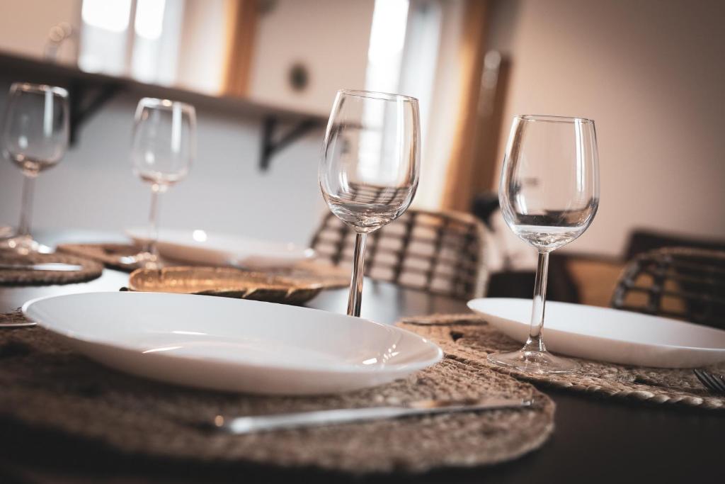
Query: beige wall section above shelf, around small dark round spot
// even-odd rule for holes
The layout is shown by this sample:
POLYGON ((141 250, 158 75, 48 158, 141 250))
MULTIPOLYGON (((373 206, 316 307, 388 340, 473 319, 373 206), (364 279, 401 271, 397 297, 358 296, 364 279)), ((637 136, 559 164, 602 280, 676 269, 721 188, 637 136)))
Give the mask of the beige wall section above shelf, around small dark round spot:
POLYGON ((363 89, 373 0, 281 0, 257 25, 249 96, 330 114, 338 89, 363 89), (310 84, 291 89, 289 68, 307 66, 310 84))

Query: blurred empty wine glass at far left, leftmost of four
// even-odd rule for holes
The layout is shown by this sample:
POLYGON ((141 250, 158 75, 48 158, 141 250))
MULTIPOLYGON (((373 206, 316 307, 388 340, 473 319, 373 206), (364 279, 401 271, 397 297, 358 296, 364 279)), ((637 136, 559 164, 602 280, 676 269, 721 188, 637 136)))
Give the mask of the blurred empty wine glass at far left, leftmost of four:
POLYGON ((57 165, 68 146, 68 93, 44 84, 13 83, 5 108, 3 155, 22 170, 22 203, 17 231, 0 248, 21 254, 49 253, 30 235, 33 188, 41 171, 57 165))

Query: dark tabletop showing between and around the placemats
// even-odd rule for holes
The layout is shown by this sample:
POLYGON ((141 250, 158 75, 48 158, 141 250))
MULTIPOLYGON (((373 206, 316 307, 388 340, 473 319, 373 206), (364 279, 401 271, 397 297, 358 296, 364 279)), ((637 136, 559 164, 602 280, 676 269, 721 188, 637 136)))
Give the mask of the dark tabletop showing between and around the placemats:
MULTIPOLYGON (((56 234, 41 242, 75 239, 82 233, 56 234)), ((86 234, 87 236, 87 234, 86 234)), ((94 238, 95 239, 95 238, 94 238)), ((88 242, 88 237, 85 241, 88 242)), ((105 269, 83 284, 0 288, 0 311, 26 300, 70 292, 116 291, 128 274, 105 269)), ((307 304, 344 313, 347 290, 328 290, 307 304)), ((402 316, 465 313, 465 302, 393 284, 366 280, 363 317, 392 324, 402 316)), ((424 475, 350 477, 314 469, 286 470, 235 464, 223 466, 149 459, 117 453, 99 443, 60 435, 0 416, 0 482, 227 483, 405 482, 415 483, 612 483, 644 480, 682 483, 721 482, 725 458, 725 414, 605 400, 541 387, 557 404, 555 432, 538 451, 513 462, 477 469, 441 469, 424 475), (713 479, 713 481, 710 480, 713 479)), ((1 391, 1 390, 0 390, 1 391)), ((411 445, 415 445, 411 443, 411 445)))

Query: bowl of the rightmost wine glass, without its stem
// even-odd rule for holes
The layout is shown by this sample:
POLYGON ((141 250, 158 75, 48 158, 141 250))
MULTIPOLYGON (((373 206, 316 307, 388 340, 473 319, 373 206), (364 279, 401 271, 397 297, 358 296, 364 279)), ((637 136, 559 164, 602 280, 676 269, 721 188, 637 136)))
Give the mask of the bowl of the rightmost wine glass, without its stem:
POLYGON ((499 202, 510 229, 554 250, 579 237, 599 205, 594 122, 523 115, 513 121, 499 202))

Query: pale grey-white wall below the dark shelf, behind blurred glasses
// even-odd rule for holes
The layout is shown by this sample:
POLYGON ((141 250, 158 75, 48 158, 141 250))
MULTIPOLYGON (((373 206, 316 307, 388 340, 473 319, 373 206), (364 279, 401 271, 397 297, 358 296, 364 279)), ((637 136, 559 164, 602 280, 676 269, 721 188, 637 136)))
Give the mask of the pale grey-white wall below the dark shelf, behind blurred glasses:
MULTIPOLYGON (((0 110, 8 84, 0 82, 0 110)), ((33 225, 42 229, 123 231, 144 226, 150 192, 131 174, 128 149, 136 97, 101 109, 78 147, 37 180, 33 225)), ((188 179, 162 195, 162 228, 202 228, 262 239, 308 242, 326 207, 317 181, 322 132, 257 168, 260 126, 198 110, 198 152, 188 179)), ((22 174, 0 160, 0 225, 17 223, 22 174)))

